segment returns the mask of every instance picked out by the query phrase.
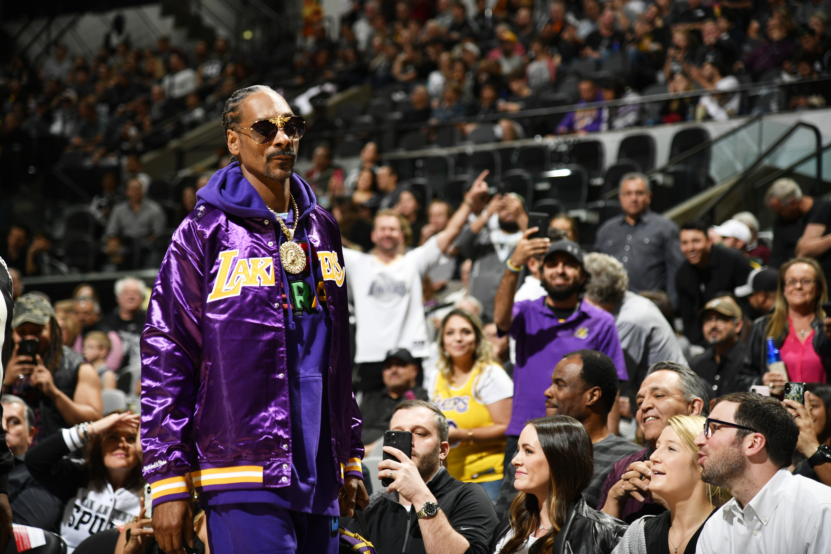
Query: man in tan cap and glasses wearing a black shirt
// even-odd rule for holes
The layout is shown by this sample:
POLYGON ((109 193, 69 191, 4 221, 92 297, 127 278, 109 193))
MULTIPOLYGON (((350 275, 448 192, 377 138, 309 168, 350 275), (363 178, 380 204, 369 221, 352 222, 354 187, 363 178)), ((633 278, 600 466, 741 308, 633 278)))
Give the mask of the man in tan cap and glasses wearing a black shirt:
POLYGON ((690 361, 690 369, 710 385, 710 399, 736 390, 735 379, 745 360, 745 344, 739 333, 745 321, 741 308, 731 297, 716 297, 701 309, 704 340, 710 345, 704 354, 690 361))

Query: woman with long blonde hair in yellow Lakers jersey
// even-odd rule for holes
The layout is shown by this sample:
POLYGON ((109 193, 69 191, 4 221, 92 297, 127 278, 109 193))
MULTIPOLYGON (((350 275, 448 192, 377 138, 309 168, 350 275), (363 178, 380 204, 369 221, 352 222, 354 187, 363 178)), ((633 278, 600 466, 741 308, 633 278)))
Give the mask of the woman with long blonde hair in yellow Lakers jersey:
POLYGON ((450 424, 447 472, 479 483, 495 502, 514 382, 494 361, 482 323, 470 311, 450 311, 441 321, 438 342, 439 371, 425 388, 450 424))

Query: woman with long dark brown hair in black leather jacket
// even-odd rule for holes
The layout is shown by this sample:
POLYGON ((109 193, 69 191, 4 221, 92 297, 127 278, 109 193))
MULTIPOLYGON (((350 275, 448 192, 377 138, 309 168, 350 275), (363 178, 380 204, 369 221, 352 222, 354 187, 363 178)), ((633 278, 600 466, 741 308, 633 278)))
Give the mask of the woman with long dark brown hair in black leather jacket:
POLYGON ((612 552, 627 525, 583 499, 594 468, 592 439, 583 424, 568 415, 531 419, 511 463, 519 494, 494 532, 494 554, 612 552))

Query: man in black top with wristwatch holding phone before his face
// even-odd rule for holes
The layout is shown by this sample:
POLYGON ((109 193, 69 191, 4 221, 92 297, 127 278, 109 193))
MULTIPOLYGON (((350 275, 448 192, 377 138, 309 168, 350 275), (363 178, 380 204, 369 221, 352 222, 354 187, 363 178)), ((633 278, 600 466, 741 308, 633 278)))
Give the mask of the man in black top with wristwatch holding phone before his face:
MULTIPOLYGON (((396 460, 378 464, 378 478, 392 478, 373 493, 364 510, 377 552, 409 554, 490 554, 498 520, 484 488, 450 477, 442 465, 450 450, 445 414, 424 400, 398 404, 390 420, 393 431, 412 433, 412 456, 385 446, 396 460)), ((355 520, 343 521, 361 532, 355 520)))

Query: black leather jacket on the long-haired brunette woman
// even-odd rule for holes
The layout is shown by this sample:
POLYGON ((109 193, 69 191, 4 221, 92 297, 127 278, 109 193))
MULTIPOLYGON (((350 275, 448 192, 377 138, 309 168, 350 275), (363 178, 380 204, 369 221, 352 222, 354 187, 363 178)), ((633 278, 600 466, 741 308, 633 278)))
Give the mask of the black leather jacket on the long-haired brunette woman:
MULTIPOLYGON (((588 507, 580 494, 568 505, 566 524, 554 539, 551 554, 610 554, 623 538, 627 527, 617 517, 588 507)), ((496 551, 496 544, 510 528, 508 517, 499 522, 489 552, 496 551)))

